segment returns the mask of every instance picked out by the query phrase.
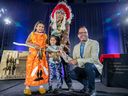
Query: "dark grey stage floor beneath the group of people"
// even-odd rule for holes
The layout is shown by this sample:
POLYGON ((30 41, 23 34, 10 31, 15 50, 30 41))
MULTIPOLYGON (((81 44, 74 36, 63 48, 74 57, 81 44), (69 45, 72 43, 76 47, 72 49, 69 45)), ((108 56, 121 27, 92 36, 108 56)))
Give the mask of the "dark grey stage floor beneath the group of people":
MULTIPOLYGON (((5 80, 0 81, 0 96, 24 96, 24 80, 5 80)), ((48 85, 44 85, 47 89, 48 85)), ((84 96, 81 93, 77 92, 67 92, 66 84, 63 84, 63 91, 59 94, 45 94, 40 95, 38 93, 38 87, 31 87, 33 91, 32 96, 84 96)), ((83 88, 79 82, 73 80, 73 88, 79 90, 83 88)), ((106 87, 101 84, 99 81, 96 81, 96 96, 128 96, 128 89, 125 88, 116 88, 116 87, 106 87)))

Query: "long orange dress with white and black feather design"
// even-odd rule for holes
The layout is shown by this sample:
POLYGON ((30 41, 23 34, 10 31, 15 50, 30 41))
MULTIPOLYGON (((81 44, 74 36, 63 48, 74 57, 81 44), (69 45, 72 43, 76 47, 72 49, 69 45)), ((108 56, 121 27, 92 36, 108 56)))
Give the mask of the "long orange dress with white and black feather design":
POLYGON ((33 44, 40 46, 42 50, 42 59, 38 58, 38 51, 29 48, 29 55, 26 63, 25 85, 39 86, 48 83, 48 63, 46 60, 45 46, 47 35, 45 33, 34 33, 30 35, 33 44))

